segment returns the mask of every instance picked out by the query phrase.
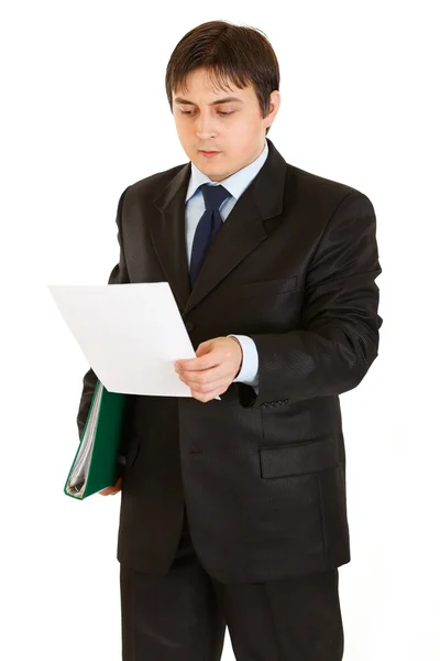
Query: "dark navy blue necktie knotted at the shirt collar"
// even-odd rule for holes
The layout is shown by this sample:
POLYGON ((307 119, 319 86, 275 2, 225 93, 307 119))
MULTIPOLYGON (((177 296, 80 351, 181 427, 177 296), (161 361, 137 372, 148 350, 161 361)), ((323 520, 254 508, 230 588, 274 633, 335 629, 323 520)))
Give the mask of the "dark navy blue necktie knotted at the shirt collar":
POLYGON ((191 259, 189 263, 191 288, 194 288, 209 248, 222 226, 223 221, 219 208, 222 202, 230 196, 230 193, 221 185, 213 186, 212 184, 202 184, 199 187, 205 198, 206 210, 201 216, 197 225, 196 234, 194 235, 191 259))

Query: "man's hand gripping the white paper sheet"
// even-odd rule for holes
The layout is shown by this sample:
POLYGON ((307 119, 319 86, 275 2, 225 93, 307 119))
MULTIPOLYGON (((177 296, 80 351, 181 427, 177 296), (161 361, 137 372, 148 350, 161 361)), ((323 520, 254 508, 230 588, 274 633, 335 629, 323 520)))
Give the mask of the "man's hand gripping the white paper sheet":
POLYGON ((200 402, 209 402, 228 390, 240 372, 243 359, 241 344, 232 337, 215 337, 202 342, 196 358, 176 360, 180 381, 191 389, 200 402))

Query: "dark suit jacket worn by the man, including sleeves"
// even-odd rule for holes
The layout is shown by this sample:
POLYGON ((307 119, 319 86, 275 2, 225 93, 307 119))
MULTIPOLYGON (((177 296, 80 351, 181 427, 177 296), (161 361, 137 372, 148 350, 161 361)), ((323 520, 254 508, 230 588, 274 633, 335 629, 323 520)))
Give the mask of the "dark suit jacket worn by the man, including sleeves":
MULTIPOLYGON (((190 163, 129 186, 119 201, 120 260, 109 283, 168 281, 195 349, 249 335, 260 365, 257 394, 235 382, 207 403, 128 395, 117 557, 152 575, 173 562, 184 505, 196 553, 222 583, 350 561, 339 394, 377 356, 375 213, 360 191, 290 165, 268 147, 193 291, 190 163)), ((79 433, 95 383, 89 370, 79 433)))

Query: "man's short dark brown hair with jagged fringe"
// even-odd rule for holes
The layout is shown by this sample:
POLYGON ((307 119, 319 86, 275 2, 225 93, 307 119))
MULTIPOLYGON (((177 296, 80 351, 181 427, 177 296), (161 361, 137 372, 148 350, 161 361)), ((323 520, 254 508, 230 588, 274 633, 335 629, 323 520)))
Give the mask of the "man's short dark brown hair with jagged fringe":
POLYGON ((209 21, 187 32, 166 67, 165 88, 172 112, 172 91, 185 89, 187 75, 196 68, 206 68, 220 89, 228 79, 240 89, 253 85, 262 117, 270 110, 271 93, 279 89, 278 61, 267 37, 256 28, 209 21))

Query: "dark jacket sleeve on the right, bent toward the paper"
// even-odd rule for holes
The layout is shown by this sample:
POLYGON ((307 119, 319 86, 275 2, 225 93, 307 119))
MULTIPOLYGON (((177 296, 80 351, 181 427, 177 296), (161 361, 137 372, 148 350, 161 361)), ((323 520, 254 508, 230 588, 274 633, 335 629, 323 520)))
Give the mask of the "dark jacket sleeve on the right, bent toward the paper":
POLYGON ((359 191, 329 219, 306 274, 298 328, 251 335, 258 353, 258 394, 250 408, 337 395, 355 388, 377 356, 382 272, 376 218, 359 191))

